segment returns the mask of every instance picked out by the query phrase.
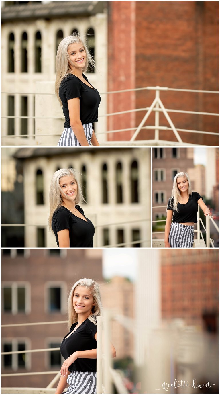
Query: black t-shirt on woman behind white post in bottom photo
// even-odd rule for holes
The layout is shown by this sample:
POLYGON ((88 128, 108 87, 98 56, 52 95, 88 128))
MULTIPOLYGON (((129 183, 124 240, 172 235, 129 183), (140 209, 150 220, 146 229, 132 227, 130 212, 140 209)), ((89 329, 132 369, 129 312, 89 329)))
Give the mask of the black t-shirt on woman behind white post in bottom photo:
MULTIPOLYGON (((75 322, 71 326, 70 332, 73 331, 77 324, 78 322, 75 322)), ((96 339, 94 339, 96 332, 97 326, 87 318, 67 339, 66 337, 69 333, 64 337, 60 345, 61 355, 64 359, 67 359, 75 351, 94 350, 94 348, 97 348, 96 339)), ((96 372, 96 358, 77 358, 70 365, 68 371, 96 372)))

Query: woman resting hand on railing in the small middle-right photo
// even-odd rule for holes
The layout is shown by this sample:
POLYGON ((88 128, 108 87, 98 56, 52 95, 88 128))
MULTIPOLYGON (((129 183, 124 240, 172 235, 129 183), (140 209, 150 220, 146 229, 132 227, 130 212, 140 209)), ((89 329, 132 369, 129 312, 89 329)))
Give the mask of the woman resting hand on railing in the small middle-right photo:
POLYGON ((192 248, 198 205, 205 216, 211 215, 201 196, 197 192, 192 192, 188 174, 178 173, 174 178, 172 196, 167 204, 165 247, 192 248))

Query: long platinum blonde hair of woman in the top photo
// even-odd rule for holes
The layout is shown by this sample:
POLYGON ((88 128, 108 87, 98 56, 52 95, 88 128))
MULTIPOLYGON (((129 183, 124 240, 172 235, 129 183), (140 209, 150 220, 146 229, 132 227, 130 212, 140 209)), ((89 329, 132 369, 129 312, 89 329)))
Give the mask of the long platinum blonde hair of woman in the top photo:
POLYGON ((75 67, 68 54, 68 47, 70 44, 82 44, 83 48, 85 49, 86 63, 85 63, 85 69, 83 69, 83 71, 86 71, 89 65, 95 66, 94 60, 92 59, 92 56, 90 55, 88 51, 88 47, 86 45, 86 36, 81 36, 79 33, 78 34, 74 33, 71 36, 67 36, 60 41, 56 53, 55 93, 60 102, 61 107, 62 107, 62 102, 59 98, 60 83, 62 79, 64 79, 64 77, 66 77, 67 75, 73 72, 73 69, 71 69, 70 66, 72 66, 73 68, 75 67))

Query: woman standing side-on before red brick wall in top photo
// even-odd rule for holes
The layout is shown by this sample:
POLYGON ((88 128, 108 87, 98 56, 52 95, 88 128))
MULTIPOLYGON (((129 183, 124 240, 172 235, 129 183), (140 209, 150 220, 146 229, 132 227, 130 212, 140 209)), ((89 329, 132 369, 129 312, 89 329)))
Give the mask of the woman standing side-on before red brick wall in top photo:
POLYGON ((100 94, 83 71, 94 66, 92 56, 79 35, 65 37, 56 55, 56 96, 63 107, 64 132, 58 147, 98 147, 93 122, 98 120, 100 94))

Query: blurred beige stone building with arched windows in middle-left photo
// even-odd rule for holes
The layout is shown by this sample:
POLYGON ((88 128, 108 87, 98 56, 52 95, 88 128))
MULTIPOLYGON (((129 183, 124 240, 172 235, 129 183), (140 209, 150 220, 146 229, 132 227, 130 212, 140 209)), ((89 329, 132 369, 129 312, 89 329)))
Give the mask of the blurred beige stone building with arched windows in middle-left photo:
POLYGON ((150 246, 149 148, 25 148, 15 157, 23 162, 25 247, 57 246, 47 222, 49 188, 55 171, 70 166, 81 174, 94 246, 150 246))

